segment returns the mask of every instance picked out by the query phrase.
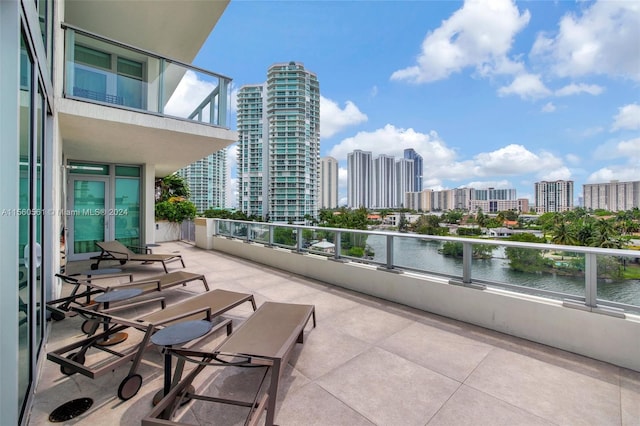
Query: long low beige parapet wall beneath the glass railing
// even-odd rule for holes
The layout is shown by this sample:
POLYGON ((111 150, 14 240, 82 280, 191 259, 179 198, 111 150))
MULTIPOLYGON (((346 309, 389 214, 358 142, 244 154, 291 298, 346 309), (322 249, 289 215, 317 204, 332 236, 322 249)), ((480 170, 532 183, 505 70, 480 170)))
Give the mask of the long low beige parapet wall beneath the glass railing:
POLYGON ((214 250, 640 371, 640 317, 637 315, 617 318, 567 308, 561 301, 452 285, 440 277, 395 273, 372 265, 297 254, 239 239, 202 237, 200 233, 207 229, 211 230, 206 222, 197 224, 196 242, 206 242, 214 250))

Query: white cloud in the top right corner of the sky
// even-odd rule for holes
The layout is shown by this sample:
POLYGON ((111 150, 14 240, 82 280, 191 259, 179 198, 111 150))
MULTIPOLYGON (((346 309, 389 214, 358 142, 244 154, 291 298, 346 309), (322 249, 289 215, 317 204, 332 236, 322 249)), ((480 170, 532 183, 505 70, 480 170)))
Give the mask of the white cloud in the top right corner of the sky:
POLYGON ((598 1, 566 14, 556 34, 539 34, 531 49, 561 77, 608 74, 640 80, 640 5, 598 1))

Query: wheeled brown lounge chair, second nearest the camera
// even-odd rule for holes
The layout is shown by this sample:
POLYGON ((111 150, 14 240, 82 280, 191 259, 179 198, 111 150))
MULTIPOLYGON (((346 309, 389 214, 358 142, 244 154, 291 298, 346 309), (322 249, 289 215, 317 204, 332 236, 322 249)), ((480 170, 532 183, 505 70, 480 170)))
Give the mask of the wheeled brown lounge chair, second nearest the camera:
MULTIPOLYGON (((47 359, 60 364, 60 370, 63 374, 70 375, 73 373, 80 373, 92 379, 110 373, 115 368, 123 364, 127 364, 129 361, 133 361, 133 364, 129 369, 129 373, 118 387, 118 397, 122 400, 127 400, 138 393, 138 390, 142 386, 142 376, 137 374, 136 371, 140 365, 145 350, 152 346, 151 336, 156 331, 181 321, 207 319, 209 321, 216 322, 216 326, 212 328, 209 334, 221 329, 222 327, 226 327, 228 335, 231 332, 231 321, 228 319, 221 319, 220 315, 244 302, 251 302, 253 309, 256 309, 255 300, 252 294, 215 289, 186 299, 162 310, 133 319, 118 317, 113 314, 117 310, 137 307, 144 303, 157 301, 163 303, 164 307, 164 300, 162 298, 130 303, 125 306, 104 311, 96 311, 74 306, 72 309, 86 317, 88 321, 98 321, 99 323, 96 323, 96 325, 99 325, 100 323, 105 324, 107 327, 106 330, 97 334, 91 334, 87 338, 78 342, 53 350, 47 354, 47 359), (100 345, 101 341, 104 341, 109 338, 109 336, 123 330, 139 331, 143 334, 142 339, 139 343, 124 349, 121 352, 115 351, 112 348, 105 348, 100 345), (92 348, 102 351, 103 353, 109 353, 113 356, 108 357, 107 359, 97 357, 98 362, 94 363, 93 366, 84 365, 87 358, 87 351, 92 348)), ((93 331, 96 329, 97 327, 94 327, 93 331)))

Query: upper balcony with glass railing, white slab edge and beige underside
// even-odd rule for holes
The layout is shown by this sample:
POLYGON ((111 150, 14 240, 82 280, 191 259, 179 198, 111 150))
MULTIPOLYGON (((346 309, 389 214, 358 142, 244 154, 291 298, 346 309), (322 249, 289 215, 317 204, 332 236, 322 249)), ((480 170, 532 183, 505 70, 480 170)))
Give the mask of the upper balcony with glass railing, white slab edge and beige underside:
POLYGON ((58 112, 68 158, 154 164, 162 176, 235 142, 229 77, 63 28, 58 112))

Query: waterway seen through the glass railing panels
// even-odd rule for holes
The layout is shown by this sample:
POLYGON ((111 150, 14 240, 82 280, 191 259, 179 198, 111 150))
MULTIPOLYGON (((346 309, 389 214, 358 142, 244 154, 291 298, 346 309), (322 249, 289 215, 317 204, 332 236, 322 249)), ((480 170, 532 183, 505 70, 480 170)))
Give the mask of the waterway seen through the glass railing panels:
MULTIPOLYGON (((394 265, 408 269, 433 272, 447 276, 462 276, 462 259, 443 256, 439 253, 442 243, 415 238, 394 237, 394 265)), ((373 261, 386 263, 386 237, 369 235, 367 244, 374 251, 373 261)), ((538 288, 568 295, 585 294, 583 277, 569 277, 557 274, 531 274, 511 270, 504 248, 493 252, 492 259, 474 259, 471 279, 494 283, 507 283, 530 288, 538 288)), ((598 298, 612 302, 640 306, 640 280, 598 280, 598 298)))

